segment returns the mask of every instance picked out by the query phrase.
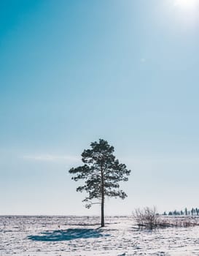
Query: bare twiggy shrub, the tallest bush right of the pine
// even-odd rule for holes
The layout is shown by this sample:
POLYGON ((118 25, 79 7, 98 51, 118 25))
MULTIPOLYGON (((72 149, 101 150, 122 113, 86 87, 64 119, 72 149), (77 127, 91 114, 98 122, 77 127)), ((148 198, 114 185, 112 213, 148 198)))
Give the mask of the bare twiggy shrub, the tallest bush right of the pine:
POLYGON ((136 219, 136 223, 140 228, 147 228, 153 230, 158 225, 159 215, 155 207, 145 207, 143 209, 137 208, 133 211, 133 217, 136 219))

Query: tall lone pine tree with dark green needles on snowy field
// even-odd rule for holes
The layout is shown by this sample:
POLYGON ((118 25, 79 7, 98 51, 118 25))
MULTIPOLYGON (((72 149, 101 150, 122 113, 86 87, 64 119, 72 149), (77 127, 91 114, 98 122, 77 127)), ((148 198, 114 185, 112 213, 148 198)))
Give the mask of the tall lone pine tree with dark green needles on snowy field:
POLYGON ((90 208, 94 198, 101 203, 101 227, 104 227, 104 199, 107 197, 120 197, 125 199, 127 195, 120 190, 120 181, 128 181, 130 170, 126 165, 115 159, 114 147, 110 146, 106 140, 90 143, 91 149, 85 149, 82 153, 84 165, 71 168, 69 173, 74 174, 72 179, 79 181, 85 179, 85 185, 77 187, 77 192, 88 193, 85 200, 86 208, 90 208))

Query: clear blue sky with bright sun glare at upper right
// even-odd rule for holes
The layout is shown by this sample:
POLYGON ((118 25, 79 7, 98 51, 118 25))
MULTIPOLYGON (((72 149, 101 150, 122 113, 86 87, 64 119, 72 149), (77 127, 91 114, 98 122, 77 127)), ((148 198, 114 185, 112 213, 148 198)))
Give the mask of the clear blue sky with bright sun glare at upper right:
POLYGON ((98 214, 70 167, 104 138, 136 207, 198 207, 195 0, 0 2, 0 214, 98 214))

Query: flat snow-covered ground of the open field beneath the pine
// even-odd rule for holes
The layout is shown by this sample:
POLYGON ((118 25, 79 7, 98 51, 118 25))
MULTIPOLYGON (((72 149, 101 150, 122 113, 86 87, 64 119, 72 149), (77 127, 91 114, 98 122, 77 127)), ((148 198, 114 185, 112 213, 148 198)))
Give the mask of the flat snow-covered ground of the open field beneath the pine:
POLYGON ((199 255, 199 227, 136 230, 132 217, 0 217, 2 256, 199 255))

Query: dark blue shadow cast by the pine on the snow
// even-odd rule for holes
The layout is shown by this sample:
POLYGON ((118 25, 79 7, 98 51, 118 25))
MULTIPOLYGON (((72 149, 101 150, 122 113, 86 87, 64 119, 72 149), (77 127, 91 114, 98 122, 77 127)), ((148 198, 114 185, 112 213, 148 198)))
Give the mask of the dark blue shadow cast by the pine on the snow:
POLYGON ((69 228, 68 230, 55 230, 42 232, 41 236, 28 236, 33 241, 69 241, 78 238, 100 238, 109 236, 101 234, 101 230, 88 228, 69 228))

